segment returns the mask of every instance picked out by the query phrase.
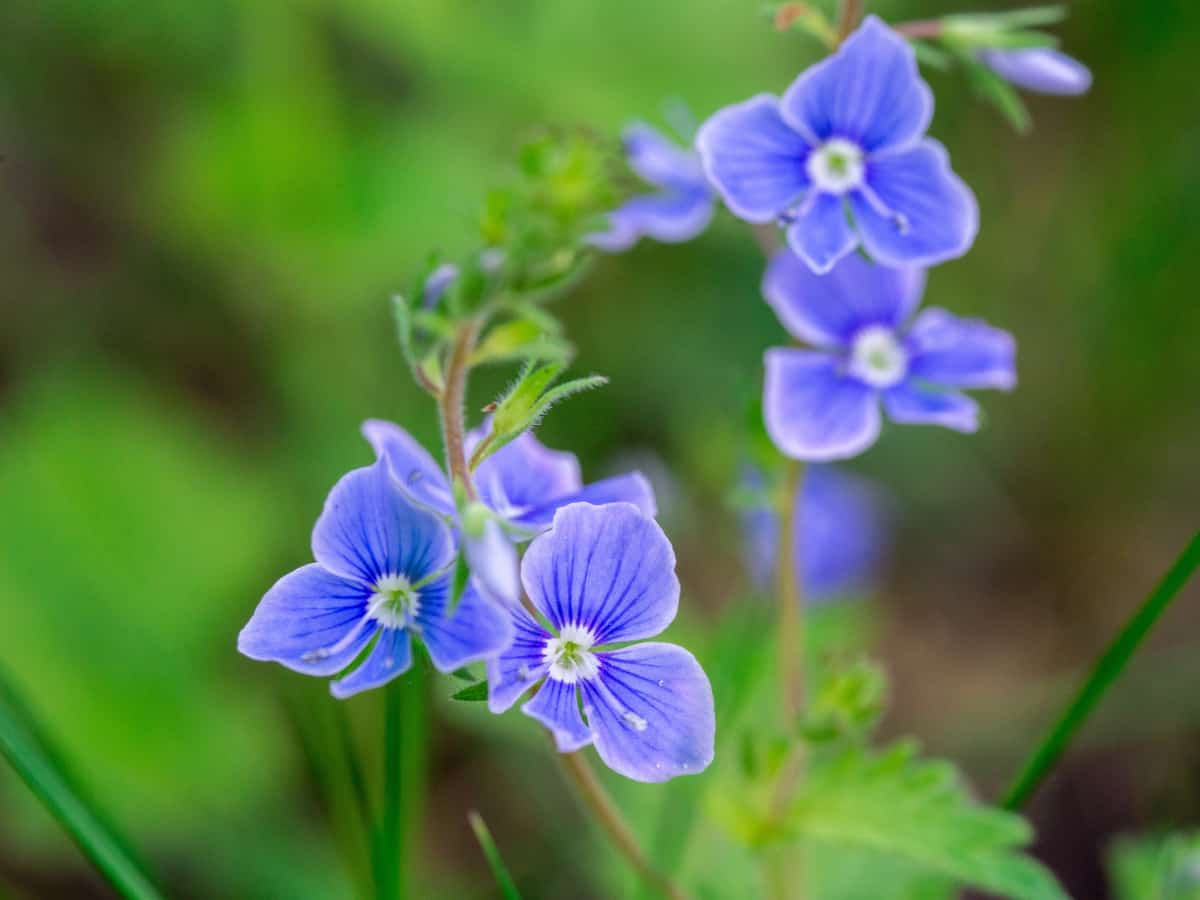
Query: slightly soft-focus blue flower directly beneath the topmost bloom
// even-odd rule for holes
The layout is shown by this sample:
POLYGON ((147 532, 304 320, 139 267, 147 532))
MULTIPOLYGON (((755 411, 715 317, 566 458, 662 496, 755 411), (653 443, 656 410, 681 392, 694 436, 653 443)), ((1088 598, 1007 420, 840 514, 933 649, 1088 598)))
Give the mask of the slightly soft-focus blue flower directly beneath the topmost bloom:
POLYGON ((857 254, 828 275, 787 250, 767 266, 763 294, 793 337, 815 350, 767 350, 763 418, 797 460, 854 456, 880 434, 880 400, 893 421, 971 432, 979 408, 958 389, 1016 384, 1012 335, 930 308, 908 324, 920 269, 888 269, 857 254))

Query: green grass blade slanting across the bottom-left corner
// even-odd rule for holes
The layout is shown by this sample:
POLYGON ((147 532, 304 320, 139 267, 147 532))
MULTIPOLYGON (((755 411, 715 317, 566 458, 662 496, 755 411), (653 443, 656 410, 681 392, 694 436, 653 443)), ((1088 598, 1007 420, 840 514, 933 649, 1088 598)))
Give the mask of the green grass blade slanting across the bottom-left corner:
POLYGON ((121 896, 158 900, 161 894, 106 827, 103 818, 82 799, 55 757, 26 725, 22 707, 7 683, 0 690, 0 754, 34 796, 49 810, 84 856, 121 896))

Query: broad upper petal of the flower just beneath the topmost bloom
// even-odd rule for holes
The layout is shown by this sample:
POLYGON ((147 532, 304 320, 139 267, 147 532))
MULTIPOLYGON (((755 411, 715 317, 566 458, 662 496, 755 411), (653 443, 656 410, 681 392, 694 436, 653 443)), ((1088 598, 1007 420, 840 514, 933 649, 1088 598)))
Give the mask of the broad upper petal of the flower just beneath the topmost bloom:
POLYGON ((767 302, 792 337, 828 348, 848 348, 866 325, 899 328, 924 288, 922 269, 874 265, 854 253, 828 275, 816 275, 787 250, 775 253, 762 281, 767 302))

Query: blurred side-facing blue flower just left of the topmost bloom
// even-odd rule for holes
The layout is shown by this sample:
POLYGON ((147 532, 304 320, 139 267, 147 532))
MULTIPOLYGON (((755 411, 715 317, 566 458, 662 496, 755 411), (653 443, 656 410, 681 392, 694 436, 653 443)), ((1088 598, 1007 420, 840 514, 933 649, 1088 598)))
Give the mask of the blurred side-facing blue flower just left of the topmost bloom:
POLYGON ((629 250, 642 236, 679 244, 703 232, 714 203, 700 157, 649 125, 626 128, 624 143, 630 167, 659 191, 634 197, 610 212, 608 230, 589 234, 587 242, 614 253, 629 250))

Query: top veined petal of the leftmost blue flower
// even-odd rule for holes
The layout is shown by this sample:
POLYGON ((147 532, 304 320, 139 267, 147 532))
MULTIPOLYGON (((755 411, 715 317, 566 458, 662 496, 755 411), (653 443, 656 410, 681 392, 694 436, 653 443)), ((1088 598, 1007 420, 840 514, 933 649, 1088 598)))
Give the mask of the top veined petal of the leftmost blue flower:
POLYGON ((454 540, 440 518, 408 500, 380 458, 334 485, 312 529, 312 553, 366 584, 385 575, 415 582, 450 564, 454 540))

